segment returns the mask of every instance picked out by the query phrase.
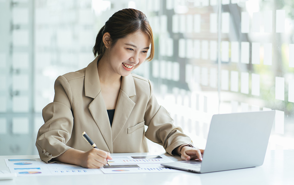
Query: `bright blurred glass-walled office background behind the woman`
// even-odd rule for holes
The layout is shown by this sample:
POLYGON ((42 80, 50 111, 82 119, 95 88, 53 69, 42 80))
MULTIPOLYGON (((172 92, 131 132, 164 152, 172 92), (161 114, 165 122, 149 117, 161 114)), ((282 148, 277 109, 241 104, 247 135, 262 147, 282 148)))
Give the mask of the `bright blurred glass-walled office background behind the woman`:
POLYGON ((268 147, 294 149, 293 0, 0 0, 0 155, 37 154, 55 79, 94 59, 96 34, 123 8, 143 11, 155 37, 134 73, 196 146, 213 114, 272 109, 268 147))

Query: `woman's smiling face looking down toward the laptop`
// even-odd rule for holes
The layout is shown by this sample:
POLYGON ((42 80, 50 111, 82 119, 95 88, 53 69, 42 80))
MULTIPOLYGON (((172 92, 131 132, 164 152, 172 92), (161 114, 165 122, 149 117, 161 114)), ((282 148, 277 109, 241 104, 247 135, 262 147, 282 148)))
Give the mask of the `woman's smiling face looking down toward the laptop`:
POLYGON ((145 61, 149 45, 148 35, 141 31, 118 39, 108 52, 111 68, 120 76, 128 76, 145 61))

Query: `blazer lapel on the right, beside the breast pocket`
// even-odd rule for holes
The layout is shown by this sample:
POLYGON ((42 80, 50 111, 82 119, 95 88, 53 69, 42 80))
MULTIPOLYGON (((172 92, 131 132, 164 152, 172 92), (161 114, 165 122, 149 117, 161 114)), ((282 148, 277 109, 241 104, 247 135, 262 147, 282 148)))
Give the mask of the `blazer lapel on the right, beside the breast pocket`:
POLYGON ((136 95, 135 83, 133 76, 130 74, 126 77, 122 77, 121 90, 118 95, 114 117, 112 121, 112 141, 116 139, 121 132, 123 126, 126 124, 134 106, 135 102, 131 100, 131 96, 136 95))

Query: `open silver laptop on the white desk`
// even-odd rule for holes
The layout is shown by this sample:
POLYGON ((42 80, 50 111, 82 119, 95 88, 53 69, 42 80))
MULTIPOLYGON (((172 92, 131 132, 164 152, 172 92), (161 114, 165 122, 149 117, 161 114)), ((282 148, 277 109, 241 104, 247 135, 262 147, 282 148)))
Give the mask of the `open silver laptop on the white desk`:
POLYGON ((275 110, 213 115, 202 162, 161 165, 196 173, 261 166, 274 118, 275 110))

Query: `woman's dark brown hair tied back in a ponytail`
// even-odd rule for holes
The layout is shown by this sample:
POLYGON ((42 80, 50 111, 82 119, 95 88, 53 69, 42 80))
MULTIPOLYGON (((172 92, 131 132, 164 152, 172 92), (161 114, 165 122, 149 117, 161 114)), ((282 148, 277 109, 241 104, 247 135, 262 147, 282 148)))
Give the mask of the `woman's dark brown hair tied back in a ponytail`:
POLYGON ((114 46, 118 39, 126 37, 136 31, 141 31, 148 35, 151 41, 150 55, 146 60, 150 61, 154 57, 154 40, 153 33, 146 15, 136 9, 122 9, 114 13, 105 25, 100 29, 96 37, 96 43, 93 47, 93 54, 104 54, 106 47, 103 43, 103 35, 108 32, 110 34, 111 46, 114 46))

